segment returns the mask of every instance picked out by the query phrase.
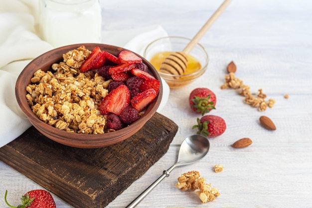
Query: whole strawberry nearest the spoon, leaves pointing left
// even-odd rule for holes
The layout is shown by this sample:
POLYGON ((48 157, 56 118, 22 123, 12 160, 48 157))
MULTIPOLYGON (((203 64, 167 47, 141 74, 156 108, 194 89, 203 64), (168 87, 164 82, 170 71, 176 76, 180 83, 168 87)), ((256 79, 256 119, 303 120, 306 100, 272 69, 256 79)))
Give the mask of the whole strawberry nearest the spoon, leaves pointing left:
POLYGON ((193 129, 197 128, 197 134, 202 134, 206 137, 217 137, 224 133, 226 130, 226 124, 223 118, 214 115, 206 115, 197 118, 197 125, 193 126, 193 129))

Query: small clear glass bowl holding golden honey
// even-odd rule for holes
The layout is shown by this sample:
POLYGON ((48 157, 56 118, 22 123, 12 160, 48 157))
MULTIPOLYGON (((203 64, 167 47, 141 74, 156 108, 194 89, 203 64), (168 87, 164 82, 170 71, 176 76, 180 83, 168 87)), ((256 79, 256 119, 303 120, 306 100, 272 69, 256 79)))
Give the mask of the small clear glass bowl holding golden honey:
POLYGON ((179 52, 190 42, 179 36, 161 37, 151 42, 144 51, 144 57, 156 68, 170 88, 180 88, 200 77, 207 69, 209 57, 205 48, 197 43, 187 55, 187 68, 184 74, 175 75, 159 72, 163 60, 172 52, 179 52))

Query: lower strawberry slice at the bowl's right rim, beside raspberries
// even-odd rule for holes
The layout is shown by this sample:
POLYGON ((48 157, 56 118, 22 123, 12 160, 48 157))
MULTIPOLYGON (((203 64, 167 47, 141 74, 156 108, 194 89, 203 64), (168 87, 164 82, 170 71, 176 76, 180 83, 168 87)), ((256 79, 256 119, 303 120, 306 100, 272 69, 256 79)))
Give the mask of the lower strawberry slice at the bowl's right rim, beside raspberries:
POLYGON ((130 102, 138 112, 142 112, 150 103, 153 102, 156 96, 155 89, 150 88, 133 97, 130 102))

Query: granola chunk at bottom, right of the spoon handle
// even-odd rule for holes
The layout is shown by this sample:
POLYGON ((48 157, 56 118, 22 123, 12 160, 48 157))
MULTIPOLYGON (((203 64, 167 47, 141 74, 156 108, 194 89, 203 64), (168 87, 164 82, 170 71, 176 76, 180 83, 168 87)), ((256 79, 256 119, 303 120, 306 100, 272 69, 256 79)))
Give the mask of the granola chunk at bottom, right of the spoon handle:
POLYGON ((211 187, 211 184, 206 184, 206 179, 200 178, 197 171, 184 173, 177 180, 176 188, 181 191, 195 191, 202 203, 211 202, 220 196, 218 189, 211 187))

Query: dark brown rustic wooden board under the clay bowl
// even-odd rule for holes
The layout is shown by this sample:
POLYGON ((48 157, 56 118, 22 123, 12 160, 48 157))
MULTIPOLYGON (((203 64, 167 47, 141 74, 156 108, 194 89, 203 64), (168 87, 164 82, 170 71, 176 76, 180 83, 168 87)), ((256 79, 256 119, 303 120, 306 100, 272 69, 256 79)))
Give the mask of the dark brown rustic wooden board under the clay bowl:
POLYGON ((177 130, 173 121, 156 113, 121 143, 79 149, 30 127, 0 148, 0 160, 76 208, 103 208, 167 152, 177 130))

